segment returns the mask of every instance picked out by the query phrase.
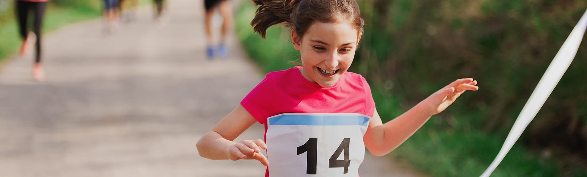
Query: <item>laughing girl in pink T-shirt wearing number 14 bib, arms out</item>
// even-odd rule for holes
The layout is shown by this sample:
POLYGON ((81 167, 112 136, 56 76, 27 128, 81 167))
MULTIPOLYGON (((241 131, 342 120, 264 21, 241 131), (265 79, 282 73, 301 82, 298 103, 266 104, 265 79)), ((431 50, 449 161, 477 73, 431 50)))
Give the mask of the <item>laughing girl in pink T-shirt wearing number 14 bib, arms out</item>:
POLYGON ((255 159, 268 166, 265 176, 356 177, 364 147, 386 155, 464 91, 478 90, 477 81, 458 79, 383 124, 369 84, 347 71, 364 25, 355 0, 253 2, 255 32, 265 38, 269 26, 285 23, 302 66, 267 74, 198 141, 204 158, 255 159), (255 122, 265 125, 265 141, 233 142, 255 122))

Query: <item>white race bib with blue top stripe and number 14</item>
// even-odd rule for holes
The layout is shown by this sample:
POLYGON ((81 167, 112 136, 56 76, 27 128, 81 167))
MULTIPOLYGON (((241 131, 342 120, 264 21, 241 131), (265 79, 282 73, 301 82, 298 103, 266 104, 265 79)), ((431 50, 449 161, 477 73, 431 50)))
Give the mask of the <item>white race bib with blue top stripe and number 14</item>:
POLYGON ((359 176, 363 114, 285 113, 267 120, 269 176, 359 176))

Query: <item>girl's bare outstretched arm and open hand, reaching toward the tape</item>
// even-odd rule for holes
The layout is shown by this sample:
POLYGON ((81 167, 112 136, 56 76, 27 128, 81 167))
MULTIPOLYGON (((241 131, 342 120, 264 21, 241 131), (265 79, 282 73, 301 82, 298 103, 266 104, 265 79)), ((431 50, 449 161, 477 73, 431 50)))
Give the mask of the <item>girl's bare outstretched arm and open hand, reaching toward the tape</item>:
POLYGON ((383 156, 399 147, 407 138, 410 138, 429 118, 438 114, 452 104, 467 90, 479 90, 477 81, 471 78, 458 79, 444 88, 436 91, 406 113, 393 120, 382 123, 381 117, 375 110, 373 119, 363 141, 371 154, 383 156))

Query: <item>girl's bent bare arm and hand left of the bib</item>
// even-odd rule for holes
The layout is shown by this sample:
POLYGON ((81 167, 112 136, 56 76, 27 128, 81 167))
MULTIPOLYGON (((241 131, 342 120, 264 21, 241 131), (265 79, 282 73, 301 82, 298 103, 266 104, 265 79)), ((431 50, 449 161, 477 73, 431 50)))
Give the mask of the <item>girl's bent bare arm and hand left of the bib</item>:
POLYGON ((242 105, 238 105, 230 114, 198 141, 196 147, 200 156, 208 159, 255 159, 268 166, 269 161, 261 154, 267 145, 261 139, 232 142, 257 120, 242 105))

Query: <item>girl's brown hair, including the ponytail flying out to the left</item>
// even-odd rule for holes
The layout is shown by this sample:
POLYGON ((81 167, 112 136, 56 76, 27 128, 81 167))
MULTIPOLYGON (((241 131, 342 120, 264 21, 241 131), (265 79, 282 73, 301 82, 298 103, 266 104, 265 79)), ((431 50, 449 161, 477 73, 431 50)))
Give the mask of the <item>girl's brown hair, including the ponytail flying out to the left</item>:
POLYGON ((251 26, 265 38, 269 26, 284 23, 302 38, 316 21, 340 22, 347 20, 352 28, 363 33, 365 22, 355 0, 252 0, 259 5, 251 26))

